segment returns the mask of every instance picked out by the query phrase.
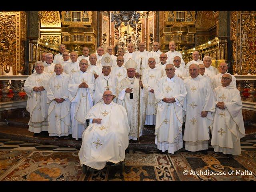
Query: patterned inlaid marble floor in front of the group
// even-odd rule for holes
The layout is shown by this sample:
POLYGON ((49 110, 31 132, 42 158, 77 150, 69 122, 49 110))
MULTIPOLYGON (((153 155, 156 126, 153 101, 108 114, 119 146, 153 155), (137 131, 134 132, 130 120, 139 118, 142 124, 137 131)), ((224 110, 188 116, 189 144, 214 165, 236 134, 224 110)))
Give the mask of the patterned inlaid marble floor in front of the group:
POLYGON ((241 142, 241 148, 234 159, 212 148, 176 154, 127 150, 124 172, 108 164, 83 173, 76 148, 0 138, 0 181, 256 181, 256 140, 241 142))

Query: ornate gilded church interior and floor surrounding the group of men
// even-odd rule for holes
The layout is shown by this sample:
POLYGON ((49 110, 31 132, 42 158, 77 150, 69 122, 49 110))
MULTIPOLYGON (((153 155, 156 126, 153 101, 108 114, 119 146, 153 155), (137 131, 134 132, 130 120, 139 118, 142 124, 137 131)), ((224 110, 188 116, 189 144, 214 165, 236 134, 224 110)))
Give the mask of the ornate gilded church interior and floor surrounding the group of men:
MULTIPOLYGON (((256 11, 0 11, 0 181, 256 181, 256 11), (185 63, 192 53, 212 58, 212 66, 228 64, 242 100, 246 136, 241 154, 228 159, 214 154, 175 154, 157 150, 154 126, 144 126, 139 141, 129 141, 125 170, 108 164, 103 170, 80 167, 82 141, 51 138, 48 132, 28 131, 24 82, 44 52, 106 52, 113 47, 128 52, 140 42, 152 51, 159 42, 162 52, 169 42, 185 63), (184 170, 251 172, 230 176, 185 175, 184 170)), ((209 141, 210 142, 210 141, 209 141)))

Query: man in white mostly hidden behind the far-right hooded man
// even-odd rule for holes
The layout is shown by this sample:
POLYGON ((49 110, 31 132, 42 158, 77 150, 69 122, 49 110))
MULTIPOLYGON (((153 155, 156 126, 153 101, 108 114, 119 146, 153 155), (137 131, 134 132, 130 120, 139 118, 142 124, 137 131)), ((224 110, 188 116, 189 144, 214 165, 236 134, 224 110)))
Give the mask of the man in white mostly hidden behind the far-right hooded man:
MULTIPOLYGON (((228 64, 224 62, 220 63, 220 65, 218 66, 218 69, 219 69, 219 73, 212 77, 212 90, 214 90, 218 86, 221 86, 221 77, 223 74, 230 74, 230 73, 227 73, 228 64)), ((232 82, 230 83, 230 86, 236 87, 236 78, 233 75, 231 76, 232 76, 232 82)))

